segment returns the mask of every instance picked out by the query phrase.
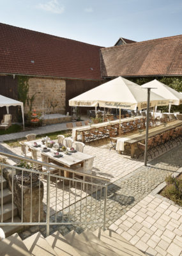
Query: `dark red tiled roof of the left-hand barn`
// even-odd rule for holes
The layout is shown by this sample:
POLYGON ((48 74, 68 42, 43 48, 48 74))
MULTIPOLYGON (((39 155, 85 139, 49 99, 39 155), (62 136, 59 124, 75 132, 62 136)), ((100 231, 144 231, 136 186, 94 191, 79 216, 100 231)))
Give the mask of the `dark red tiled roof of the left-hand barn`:
POLYGON ((100 47, 0 23, 0 73, 101 79, 100 47))

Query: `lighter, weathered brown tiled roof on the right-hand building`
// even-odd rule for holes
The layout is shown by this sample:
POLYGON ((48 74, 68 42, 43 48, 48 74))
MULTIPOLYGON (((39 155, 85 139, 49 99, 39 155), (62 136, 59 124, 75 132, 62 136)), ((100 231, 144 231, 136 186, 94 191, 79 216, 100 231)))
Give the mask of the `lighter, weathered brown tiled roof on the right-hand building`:
POLYGON ((182 76, 182 35, 101 49, 103 77, 182 76))

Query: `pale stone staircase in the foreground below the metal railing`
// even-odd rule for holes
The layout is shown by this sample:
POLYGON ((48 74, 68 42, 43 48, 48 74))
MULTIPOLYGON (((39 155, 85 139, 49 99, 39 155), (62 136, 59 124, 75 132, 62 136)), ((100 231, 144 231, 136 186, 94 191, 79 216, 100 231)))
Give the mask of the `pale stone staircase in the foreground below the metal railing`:
POLYGON ((22 241, 17 233, 0 241, 0 256, 144 256, 126 239, 112 230, 81 234, 72 231, 62 236, 58 231, 44 238, 40 232, 22 241))

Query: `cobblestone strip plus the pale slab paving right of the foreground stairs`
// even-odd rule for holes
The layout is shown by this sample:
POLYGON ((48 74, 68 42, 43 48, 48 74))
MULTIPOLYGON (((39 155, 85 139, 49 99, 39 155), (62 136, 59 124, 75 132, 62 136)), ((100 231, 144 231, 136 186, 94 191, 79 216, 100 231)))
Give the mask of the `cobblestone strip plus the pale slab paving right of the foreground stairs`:
MULTIPOLYGON (((140 166, 137 170, 133 170, 132 173, 108 186, 107 228, 116 230, 125 239, 148 253, 146 255, 181 255, 179 246, 182 234, 181 210, 179 211, 178 207, 171 207, 171 204, 168 203, 167 205, 166 202, 163 203, 163 200, 155 199, 155 196, 149 195, 158 184, 165 180, 165 177, 178 172, 182 166, 181 154, 182 145, 179 145, 151 161, 149 166, 140 166), (166 209, 169 211, 165 211, 166 209), (178 218, 178 225, 176 218, 178 218), (169 221, 171 222, 169 223, 169 221), (166 234, 170 234, 171 237, 166 236, 166 234), (174 250, 175 248, 176 250, 174 250)), ((76 220, 79 221, 80 216, 84 218, 86 204, 92 205, 89 207, 89 211, 92 212, 89 216, 90 220, 91 218, 99 219, 96 213, 95 195, 93 195, 87 196, 87 202, 86 199, 82 200, 81 212, 80 202, 72 205, 70 212, 73 214, 76 209, 76 220)), ((101 205, 103 207, 103 200, 101 200, 101 205)), ((69 209, 64 210, 64 216, 66 216, 66 211, 68 212, 69 209)), ((54 220, 54 216, 51 218, 54 220)), ((61 212, 57 218, 62 220, 61 212)), ((91 230, 98 227, 99 225, 87 226, 91 230)), ((80 227, 73 227, 72 225, 57 227, 54 225, 50 227, 50 232, 59 230, 64 235, 72 229, 82 232, 85 228, 85 225, 80 225, 80 227)), ((21 237, 24 239, 37 230, 38 227, 31 227, 29 231, 23 232, 21 237)), ((45 227, 40 227, 40 230, 45 235, 45 227)))

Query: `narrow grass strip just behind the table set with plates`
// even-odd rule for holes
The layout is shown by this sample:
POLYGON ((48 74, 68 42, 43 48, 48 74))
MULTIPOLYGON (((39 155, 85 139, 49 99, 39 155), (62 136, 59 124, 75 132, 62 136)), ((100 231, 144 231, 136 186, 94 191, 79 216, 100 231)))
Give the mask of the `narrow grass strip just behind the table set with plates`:
MULTIPOLYGON (((48 136, 50 138, 50 140, 57 140, 57 135, 61 135, 61 134, 63 134, 64 137, 70 136, 70 132, 68 132, 68 131, 58 131, 58 132, 50 132, 50 133, 46 133, 46 134, 37 135, 36 140, 43 138, 45 136, 48 136)), ((20 144, 19 144, 20 141, 26 141, 26 138, 21 138, 18 140, 9 140, 9 141, 4 141, 4 142, 6 144, 8 144, 10 147, 15 148, 15 147, 20 147, 20 144)))

